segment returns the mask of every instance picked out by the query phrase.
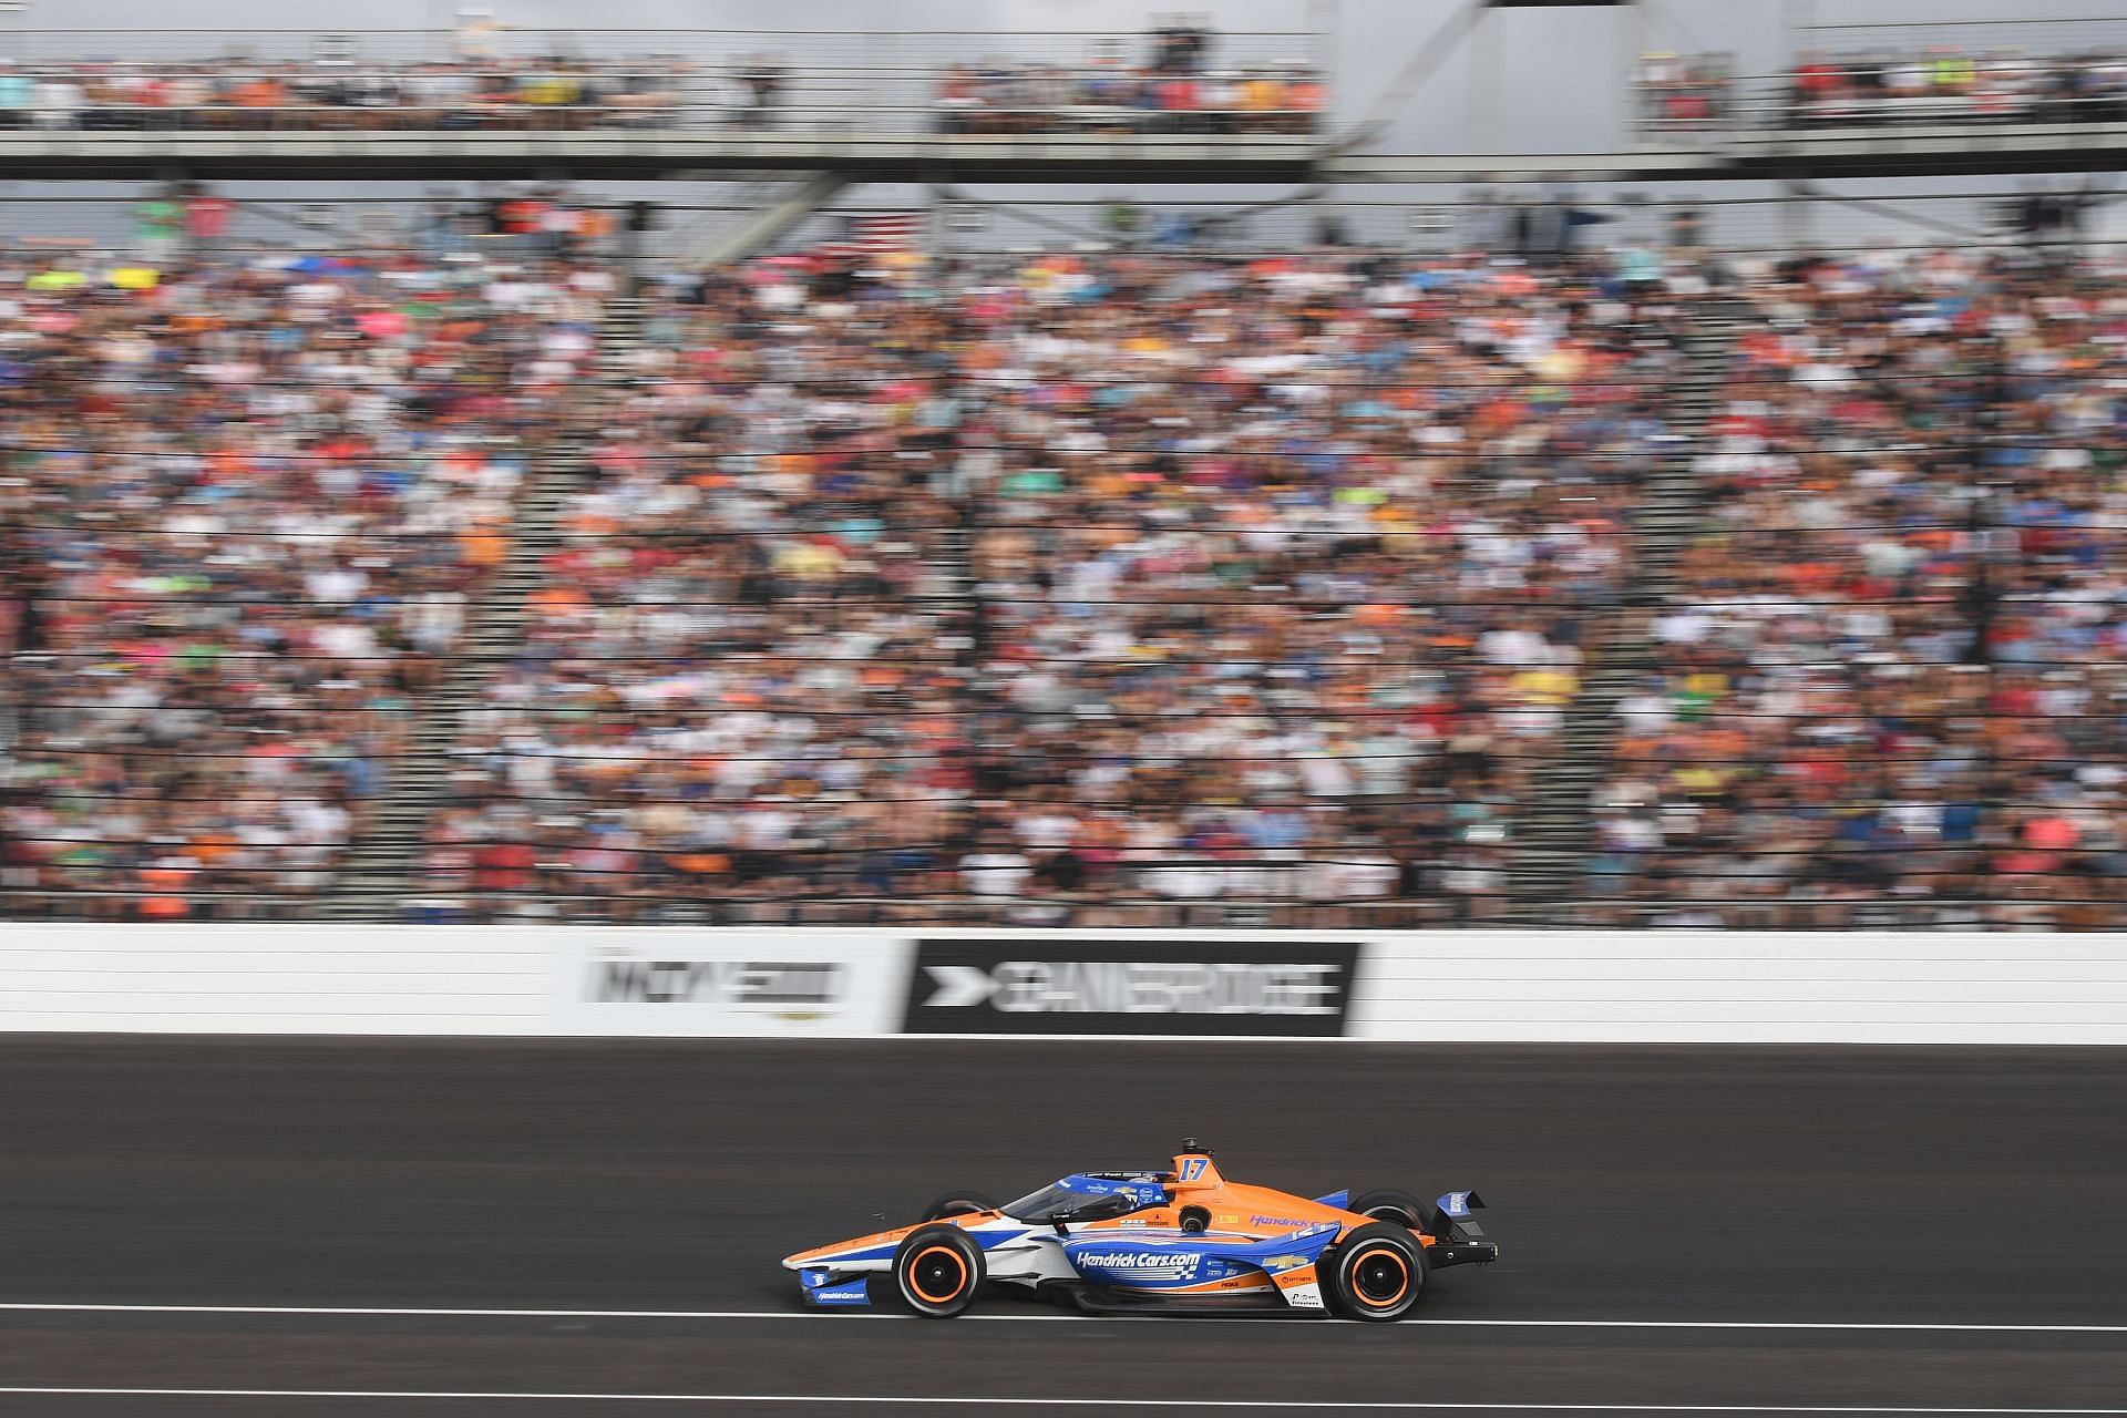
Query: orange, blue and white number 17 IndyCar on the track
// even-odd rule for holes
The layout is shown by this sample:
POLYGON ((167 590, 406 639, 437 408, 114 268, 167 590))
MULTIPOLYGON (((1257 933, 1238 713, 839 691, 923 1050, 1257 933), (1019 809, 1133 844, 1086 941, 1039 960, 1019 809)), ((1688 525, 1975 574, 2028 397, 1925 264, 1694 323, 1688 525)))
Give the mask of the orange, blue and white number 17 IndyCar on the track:
POLYGON ((949 1193, 912 1227, 800 1250, 783 1265, 821 1310, 870 1305, 876 1278, 938 1318, 998 1284, 1104 1314, 1397 1320, 1431 1271, 1500 1259, 1470 1220, 1483 1205, 1474 1191, 1425 1203, 1397 1191, 1306 1199, 1242 1186, 1191 1137, 1172 1171, 1074 1171, 1006 1205, 949 1193))

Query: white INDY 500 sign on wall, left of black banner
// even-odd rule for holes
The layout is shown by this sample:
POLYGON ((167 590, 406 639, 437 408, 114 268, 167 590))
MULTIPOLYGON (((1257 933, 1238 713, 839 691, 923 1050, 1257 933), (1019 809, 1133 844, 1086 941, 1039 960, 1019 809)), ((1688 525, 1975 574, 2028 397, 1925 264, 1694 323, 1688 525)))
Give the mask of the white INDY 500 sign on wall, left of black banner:
POLYGON ((559 1033, 893 1033, 908 942, 857 931, 553 929, 559 1033))

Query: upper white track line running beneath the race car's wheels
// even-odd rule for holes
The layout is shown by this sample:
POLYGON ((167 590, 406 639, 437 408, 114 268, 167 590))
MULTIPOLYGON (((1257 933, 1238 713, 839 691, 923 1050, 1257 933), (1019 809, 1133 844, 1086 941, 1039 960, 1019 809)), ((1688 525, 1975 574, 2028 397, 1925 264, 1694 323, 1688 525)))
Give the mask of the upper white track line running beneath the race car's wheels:
MULTIPOLYGON (((13 1301, 0 1314, 228 1314, 228 1316, 319 1316, 319 1318, 408 1318, 408 1320, 915 1320, 912 1314, 881 1310, 436 1310, 381 1305, 68 1305, 13 1301)), ((1010 1320, 1027 1324, 1106 1324, 1157 1320, 1161 1324, 1280 1324, 1289 1316, 1157 1316, 1157 1314, 964 1314, 961 1320, 1010 1320)), ((1357 1320, 1351 1320, 1357 1322, 1357 1320)), ((1708 1329, 1708 1331, 1857 1331, 1857 1333, 1976 1333, 1976 1335, 2127 1335, 2127 1324, 1955 1324, 1925 1320, 1487 1320, 1417 1318, 1404 1324, 1442 1329, 1708 1329)), ((2048 1409, 2050 1412, 2050 1409, 2048 1409)), ((2099 1412, 2099 1409, 2093 1409, 2099 1412)), ((2118 1409, 2127 1414, 2127 1409, 2118 1409)))

